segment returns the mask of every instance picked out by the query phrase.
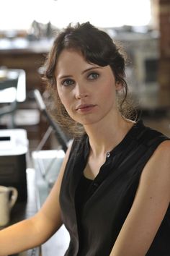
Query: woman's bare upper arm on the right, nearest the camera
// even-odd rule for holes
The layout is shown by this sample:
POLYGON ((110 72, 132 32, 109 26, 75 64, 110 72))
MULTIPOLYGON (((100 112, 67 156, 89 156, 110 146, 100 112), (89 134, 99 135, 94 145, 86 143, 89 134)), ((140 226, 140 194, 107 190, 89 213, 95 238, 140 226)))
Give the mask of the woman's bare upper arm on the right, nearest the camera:
POLYGON ((133 206, 110 256, 146 255, 170 202, 170 142, 162 142, 143 169, 133 206))

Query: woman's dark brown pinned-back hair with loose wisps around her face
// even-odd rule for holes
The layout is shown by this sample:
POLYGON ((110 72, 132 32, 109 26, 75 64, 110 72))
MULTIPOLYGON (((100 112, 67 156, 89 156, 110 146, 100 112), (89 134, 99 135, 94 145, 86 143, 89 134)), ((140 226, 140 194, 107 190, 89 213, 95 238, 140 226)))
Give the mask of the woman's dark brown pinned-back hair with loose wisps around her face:
POLYGON ((58 34, 44 65, 43 80, 47 84, 45 102, 48 111, 61 129, 73 137, 83 135, 85 132, 81 124, 71 119, 58 96, 55 67, 64 49, 80 51, 88 63, 111 67, 115 80, 122 84, 121 96, 117 97, 120 113, 126 118, 130 117, 132 108, 129 108, 130 105, 126 103, 128 85, 125 81, 125 57, 120 52, 120 48, 103 30, 99 30, 89 22, 77 23, 75 26, 68 25, 58 34))

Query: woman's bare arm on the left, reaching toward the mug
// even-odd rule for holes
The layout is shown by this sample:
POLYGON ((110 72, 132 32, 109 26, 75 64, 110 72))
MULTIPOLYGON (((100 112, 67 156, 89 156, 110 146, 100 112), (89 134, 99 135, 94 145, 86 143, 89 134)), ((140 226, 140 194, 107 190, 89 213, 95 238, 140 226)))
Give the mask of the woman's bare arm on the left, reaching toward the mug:
POLYGON ((32 218, 0 231, 0 256, 12 255, 26 249, 37 247, 48 240, 61 227, 59 193, 70 148, 68 148, 66 157, 63 160, 58 179, 39 212, 32 218))

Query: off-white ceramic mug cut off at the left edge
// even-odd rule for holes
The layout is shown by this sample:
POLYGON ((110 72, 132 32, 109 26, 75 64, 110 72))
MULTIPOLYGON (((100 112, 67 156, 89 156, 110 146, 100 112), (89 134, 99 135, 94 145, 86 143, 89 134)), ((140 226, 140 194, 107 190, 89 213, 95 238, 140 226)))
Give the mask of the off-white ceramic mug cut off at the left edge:
POLYGON ((18 192, 15 187, 0 186, 0 226, 10 221, 10 212, 17 201, 18 192))

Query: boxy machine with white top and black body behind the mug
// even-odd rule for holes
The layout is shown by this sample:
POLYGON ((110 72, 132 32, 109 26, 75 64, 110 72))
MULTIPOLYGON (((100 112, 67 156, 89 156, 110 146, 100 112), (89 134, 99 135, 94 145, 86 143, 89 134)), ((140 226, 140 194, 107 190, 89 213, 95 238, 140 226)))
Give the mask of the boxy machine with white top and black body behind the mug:
POLYGON ((0 185, 16 187, 18 200, 27 200, 27 132, 0 129, 0 185))

